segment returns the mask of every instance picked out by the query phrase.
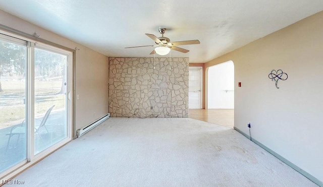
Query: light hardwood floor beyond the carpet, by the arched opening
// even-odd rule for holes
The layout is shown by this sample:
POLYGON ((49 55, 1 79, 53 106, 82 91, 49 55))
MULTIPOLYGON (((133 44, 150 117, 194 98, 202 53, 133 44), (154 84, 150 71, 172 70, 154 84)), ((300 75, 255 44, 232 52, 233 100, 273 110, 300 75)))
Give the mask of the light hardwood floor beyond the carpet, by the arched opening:
POLYGON ((188 116, 228 128, 234 126, 234 109, 189 109, 188 116))

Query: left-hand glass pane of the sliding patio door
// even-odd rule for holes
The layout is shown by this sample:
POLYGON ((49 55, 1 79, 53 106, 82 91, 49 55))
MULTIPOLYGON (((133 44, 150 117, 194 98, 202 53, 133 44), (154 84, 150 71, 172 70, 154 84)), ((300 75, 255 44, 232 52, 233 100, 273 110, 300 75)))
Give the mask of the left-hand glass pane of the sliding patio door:
POLYGON ((27 43, 0 38, 0 173, 27 159, 27 43))

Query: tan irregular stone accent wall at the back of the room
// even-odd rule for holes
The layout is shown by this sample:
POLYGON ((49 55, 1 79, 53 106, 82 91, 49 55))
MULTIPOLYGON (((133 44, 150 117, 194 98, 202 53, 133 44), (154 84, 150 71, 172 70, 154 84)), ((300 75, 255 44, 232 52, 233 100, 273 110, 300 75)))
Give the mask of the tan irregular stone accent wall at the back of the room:
POLYGON ((110 57, 109 62, 112 117, 188 117, 189 58, 110 57))

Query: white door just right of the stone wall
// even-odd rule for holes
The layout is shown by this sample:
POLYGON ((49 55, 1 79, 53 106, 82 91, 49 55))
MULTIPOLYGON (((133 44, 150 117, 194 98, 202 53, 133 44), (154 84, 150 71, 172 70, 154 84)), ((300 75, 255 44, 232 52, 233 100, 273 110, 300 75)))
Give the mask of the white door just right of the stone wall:
POLYGON ((189 93, 188 93, 188 108, 201 109, 202 99, 202 67, 189 68, 189 93))

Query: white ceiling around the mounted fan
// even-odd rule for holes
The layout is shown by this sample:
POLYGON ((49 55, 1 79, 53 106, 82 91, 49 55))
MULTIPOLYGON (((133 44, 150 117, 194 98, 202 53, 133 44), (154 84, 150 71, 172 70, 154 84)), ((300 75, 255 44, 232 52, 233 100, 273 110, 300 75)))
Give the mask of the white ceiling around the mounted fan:
MULTIPOLYGON (((1 0, 0 9, 107 56, 148 57, 145 33, 181 45, 173 57, 205 63, 323 10, 322 0, 1 0)), ((32 34, 32 33, 29 33, 32 34)))

